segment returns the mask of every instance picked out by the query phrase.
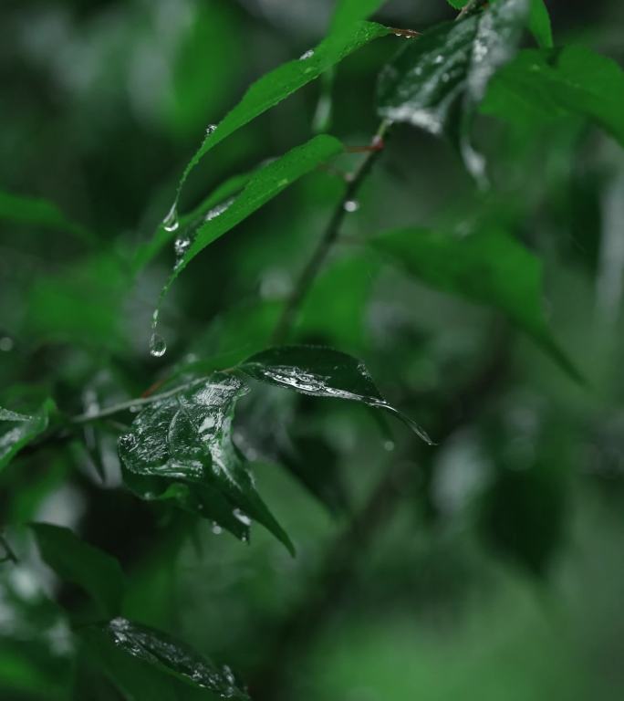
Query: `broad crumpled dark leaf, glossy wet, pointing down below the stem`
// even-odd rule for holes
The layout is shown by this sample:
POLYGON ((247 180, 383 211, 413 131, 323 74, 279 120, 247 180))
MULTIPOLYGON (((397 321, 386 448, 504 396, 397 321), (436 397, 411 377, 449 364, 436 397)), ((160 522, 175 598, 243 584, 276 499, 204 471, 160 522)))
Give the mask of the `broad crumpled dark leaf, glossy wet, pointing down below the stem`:
POLYGON ((172 499, 240 539, 248 539, 253 518, 294 552, 232 442, 234 407, 245 392, 237 378, 215 373, 144 409, 119 441, 127 482, 141 496, 172 499), (150 477, 158 491, 150 496, 149 483, 132 476, 150 477))

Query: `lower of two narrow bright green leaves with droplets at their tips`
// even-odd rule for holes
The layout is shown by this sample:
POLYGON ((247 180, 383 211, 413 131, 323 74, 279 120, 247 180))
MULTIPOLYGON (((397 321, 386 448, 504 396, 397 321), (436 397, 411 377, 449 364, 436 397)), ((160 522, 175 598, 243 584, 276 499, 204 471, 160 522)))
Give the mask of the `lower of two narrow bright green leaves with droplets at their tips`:
POLYGON ((192 232, 192 237, 186 234, 179 237, 178 250, 182 250, 183 253, 178 258, 172 275, 162 290, 162 295, 167 293, 173 280, 203 248, 286 190, 288 185, 310 173, 342 150, 340 141, 331 136, 320 135, 261 168, 234 201, 227 201, 218 209, 205 214, 202 224, 192 232))

